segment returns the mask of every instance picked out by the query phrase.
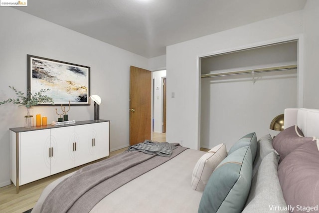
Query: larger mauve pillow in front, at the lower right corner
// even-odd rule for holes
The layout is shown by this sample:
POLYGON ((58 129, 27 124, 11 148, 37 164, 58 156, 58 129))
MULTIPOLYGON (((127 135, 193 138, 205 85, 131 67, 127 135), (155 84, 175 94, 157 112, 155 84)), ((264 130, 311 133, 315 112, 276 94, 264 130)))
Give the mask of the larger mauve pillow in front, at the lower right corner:
MULTIPOLYGON (((316 207, 319 204, 319 151, 316 141, 292 151, 278 167, 278 177, 288 206, 316 207)), ((306 212, 307 210, 304 210, 306 212)))

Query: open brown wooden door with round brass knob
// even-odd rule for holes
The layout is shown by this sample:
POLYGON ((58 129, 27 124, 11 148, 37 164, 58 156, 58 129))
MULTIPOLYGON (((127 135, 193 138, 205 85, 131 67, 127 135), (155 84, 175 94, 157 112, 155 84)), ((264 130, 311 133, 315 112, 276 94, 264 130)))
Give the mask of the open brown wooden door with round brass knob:
POLYGON ((151 140, 151 83, 149 70, 130 67, 130 145, 151 140))

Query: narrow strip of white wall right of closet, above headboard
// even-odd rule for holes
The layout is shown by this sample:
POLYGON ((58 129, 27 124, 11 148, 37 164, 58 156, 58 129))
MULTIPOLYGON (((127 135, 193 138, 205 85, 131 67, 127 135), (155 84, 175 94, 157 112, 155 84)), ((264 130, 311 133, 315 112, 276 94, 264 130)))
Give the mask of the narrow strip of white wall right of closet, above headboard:
POLYGON ((305 22, 305 107, 319 108, 319 1, 307 0, 305 22))

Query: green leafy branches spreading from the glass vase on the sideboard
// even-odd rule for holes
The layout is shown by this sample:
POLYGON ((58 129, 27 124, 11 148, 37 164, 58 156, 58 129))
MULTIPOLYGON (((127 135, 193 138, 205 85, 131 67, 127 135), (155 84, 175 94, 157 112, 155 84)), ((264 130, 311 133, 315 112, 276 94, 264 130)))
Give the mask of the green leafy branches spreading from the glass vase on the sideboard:
POLYGON ((5 101, 0 101, 0 105, 5 103, 13 103, 20 104, 19 106, 25 106, 26 108, 30 108, 39 103, 53 103, 53 99, 47 95, 43 95, 43 93, 49 91, 50 89, 41 89, 39 92, 35 92, 34 95, 28 89, 26 96, 21 91, 17 91, 13 86, 9 86, 14 92, 17 98, 9 98, 5 101))

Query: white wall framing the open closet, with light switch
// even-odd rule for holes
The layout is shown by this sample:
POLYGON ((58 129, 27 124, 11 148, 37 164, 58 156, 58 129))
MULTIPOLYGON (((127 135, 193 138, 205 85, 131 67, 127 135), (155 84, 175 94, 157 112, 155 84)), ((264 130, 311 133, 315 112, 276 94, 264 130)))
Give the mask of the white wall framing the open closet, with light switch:
POLYGON ((198 149, 200 56, 301 34, 302 21, 303 12, 297 11, 167 46, 166 140, 198 149), (172 92, 175 93, 174 98, 171 98, 172 92))

